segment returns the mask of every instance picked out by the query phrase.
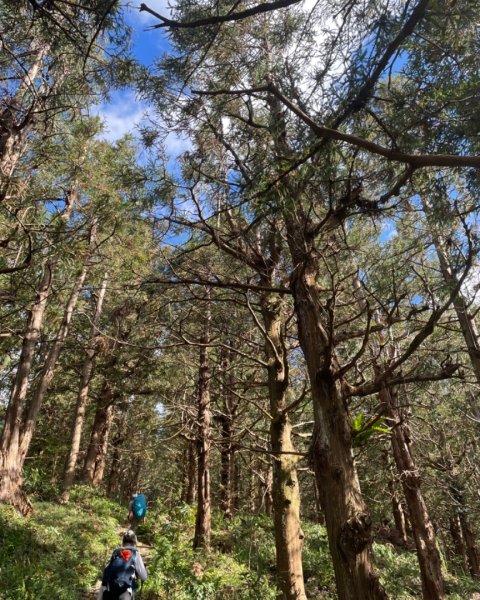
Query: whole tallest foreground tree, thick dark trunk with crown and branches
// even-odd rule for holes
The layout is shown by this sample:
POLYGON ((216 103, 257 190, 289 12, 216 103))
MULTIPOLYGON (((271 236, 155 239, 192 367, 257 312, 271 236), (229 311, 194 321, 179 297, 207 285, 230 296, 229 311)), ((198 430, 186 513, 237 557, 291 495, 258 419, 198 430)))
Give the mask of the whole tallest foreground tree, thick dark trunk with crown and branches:
MULTIPOLYGON (((178 20, 188 22, 187 4, 179 4, 178 8, 178 20)), ((383 16, 373 23, 365 13, 349 7, 340 13, 341 25, 335 33, 317 48, 305 34, 316 34, 311 15, 303 29, 296 28, 295 16, 299 15, 288 11, 270 20, 252 19, 242 22, 241 27, 201 30, 196 35, 173 28, 172 38, 180 55, 189 58, 164 63, 168 83, 176 79, 180 81, 179 89, 186 90, 181 86, 188 82, 188 89, 193 88, 196 96, 189 102, 187 92, 183 106, 187 104, 188 111, 179 105, 171 121, 177 116, 177 126, 198 129, 218 119, 228 120, 223 132, 217 127, 231 157, 227 181, 243 192, 240 202, 248 202, 252 208, 263 201, 265 212, 281 214, 285 224, 293 265, 290 286, 312 386, 316 425, 312 456, 340 598, 385 597, 371 563, 371 519, 353 459, 349 399, 378 392, 387 379, 390 385, 401 377, 401 365, 431 335, 458 286, 441 305, 433 301, 429 319, 423 326, 420 321, 416 323, 415 334, 398 359, 385 365, 381 373, 370 372, 368 382, 352 386, 347 374, 352 375, 351 369, 366 344, 359 344, 349 360, 342 360, 337 341, 342 311, 335 289, 340 285, 337 276, 341 277, 339 256, 350 243, 351 223, 360 221, 357 215, 374 216, 392 210, 393 199, 413 171, 435 166, 478 166, 474 156, 443 154, 442 149, 431 151, 428 142, 413 148, 406 130, 394 123, 391 129, 384 126, 383 98, 377 100, 376 94, 389 95, 390 90, 381 80, 387 67, 392 68, 392 61, 417 30, 428 29, 430 36, 433 30, 439 38, 445 33, 436 29, 438 23, 427 11, 428 2, 419 2, 411 10, 402 8, 387 17, 383 12, 386 5, 379 6, 383 16), (384 27, 387 22, 389 26, 384 27), (277 27, 284 37, 274 38, 266 32, 267 27, 277 27), (361 33, 367 31, 375 32, 370 52, 361 33), (291 48, 296 48, 294 54, 291 48), (304 54, 298 51, 300 48, 304 54), (342 61, 341 56, 348 53, 352 60, 342 61), (307 56, 313 68, 304 58, 307 56), (334 71, 339 80, 344 77, 344 87, 337 90, 338 101, 329 79, 334 71), (392 161, 394 168, 382 162, 382 157, 392 161), (249 172, 254 161, 257 180, 249 172), (379 173, 385 176, 383 181, 379 173), (264 185, 258 185, 258 181, 264 185), (332 279, 335 283, 328 294, 325 287, 332 279)), ((413 73, 415 60, 412 56, 411 62, 407 61, 405 73, 413 73)), ((412 77, 413 86, 418 82, 418 77, 414 81, 412 77)), ((155 84, 150 85, 153 88, 155 84)), ((416 110, 415 118, 421 119, 420 105, 416 110)), ((444 119, 440 127, 447 132, 451 123, 444 119)), ((471 264, 472 254, 471 249, 467 263, 471 264)), ((371 315, 367 312, 363 317, 364 336, 368 339, 371 315)), ((448 376, 448 369, 440 371, 421 377, 448 376)), ((410 376, 420 375, 410 371, 410 376)))

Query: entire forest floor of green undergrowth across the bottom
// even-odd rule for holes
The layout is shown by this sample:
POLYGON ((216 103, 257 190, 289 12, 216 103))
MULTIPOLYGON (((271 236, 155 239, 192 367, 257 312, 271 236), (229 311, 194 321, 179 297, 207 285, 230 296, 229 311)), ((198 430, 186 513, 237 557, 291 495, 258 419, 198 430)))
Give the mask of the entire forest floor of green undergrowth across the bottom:
MULTIPOLYGON (((0 600, 96 600, 99 577, 126 529, 126 507, 84 486, 68 505, 53 496, 34 500, 23 519, 0 506, 1 572, 8 585, 0 600)), ((208 552, 192 548, 195 511, 158 504, 137 531, 138 549, 149 578, 142 600, 275 600, 275 548, 271 517, 242 513, 225 521, 214 515, 208 552)), ((335 600, 325 529, 304 523, 307 597, 335 600)), ((392 600, 422 598, 414 551, 389 543, 374 545, 375 564, 392 600)), ((480 600, 478 584, 461 571, 445 573, 449 600, 480 600)))

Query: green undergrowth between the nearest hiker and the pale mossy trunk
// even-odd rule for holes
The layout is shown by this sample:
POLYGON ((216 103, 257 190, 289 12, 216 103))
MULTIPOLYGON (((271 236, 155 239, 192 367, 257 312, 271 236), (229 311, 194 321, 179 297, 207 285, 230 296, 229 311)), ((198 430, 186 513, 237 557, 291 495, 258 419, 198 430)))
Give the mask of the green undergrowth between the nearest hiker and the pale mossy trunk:
POLYGON ((271 532, 256 535, 248 525, 216 519, 209 552, 194 551, 195 514, 191 507, 159 510, 151 520, 154 536, 145 600, 274 600, 278 590, 269 570, 271 532), (218 526, 219 525, 219 526, 218 526), (236 537, 247 533, 249 537, 236 537), (236 543, 242 540, 242 544, 236 543), (248 542, 248 543, 247 543, 248 542))

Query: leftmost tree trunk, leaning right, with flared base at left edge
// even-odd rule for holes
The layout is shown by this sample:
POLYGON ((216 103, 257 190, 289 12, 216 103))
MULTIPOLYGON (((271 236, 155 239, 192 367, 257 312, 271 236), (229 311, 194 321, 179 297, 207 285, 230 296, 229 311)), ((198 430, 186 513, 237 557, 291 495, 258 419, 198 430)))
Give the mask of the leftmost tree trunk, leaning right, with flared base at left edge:
POLYGON ((0 502, 12 504, 22 514, 31 512, 31 504, 21 491, 23 466, 20 450, 21 426, 35 345, 43 326, 47 301, 52 290, 55 265, 55 258, 47 262, 35 302, 30 310, 17 373, 5 415, 5 425, 0 439, 0 502))

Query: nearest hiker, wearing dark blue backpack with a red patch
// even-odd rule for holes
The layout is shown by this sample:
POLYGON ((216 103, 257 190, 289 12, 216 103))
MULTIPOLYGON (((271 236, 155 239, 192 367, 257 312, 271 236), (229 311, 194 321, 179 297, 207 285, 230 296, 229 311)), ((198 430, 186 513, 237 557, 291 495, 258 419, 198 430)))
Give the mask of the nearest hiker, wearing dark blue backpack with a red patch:
POLYGON ((103 571, 98 600, 134 600, 138 579, 143 583, 148 577, 136 545, 137 536, 129 529, 123 535, 122 546, 114 550, 103 571))

